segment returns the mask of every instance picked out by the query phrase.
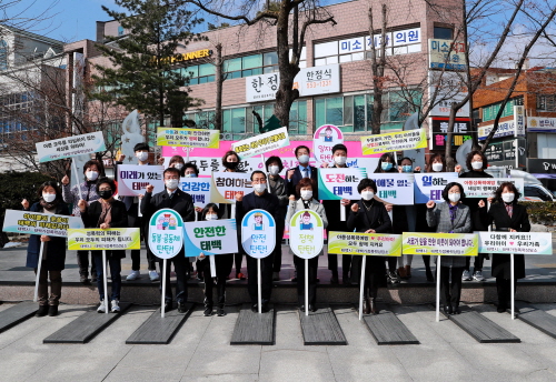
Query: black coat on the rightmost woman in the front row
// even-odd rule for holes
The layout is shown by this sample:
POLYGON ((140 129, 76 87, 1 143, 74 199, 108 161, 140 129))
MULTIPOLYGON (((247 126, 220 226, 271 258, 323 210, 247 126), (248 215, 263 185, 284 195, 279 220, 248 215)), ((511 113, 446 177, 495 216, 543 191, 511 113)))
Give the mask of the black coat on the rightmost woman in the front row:
MULTIPOLYGON (((485 208, 483 208, 486 210, 485 208)), ((530 223, 525 205, 514 203, 514 211, 512 218, 504 203, 493 203, 487 213, 487 225, 495 223, 497 231, 508 231, 514 229, 517 232, 529 232, 530 223)), ((504 278, 509 280, 512 278, 509 253, 494 253, 493 268, 490 274, 494 278, 504 278)), ((525 258, 520 253, 514 254, 514 275, 516 279, 525 278, 525 258)))

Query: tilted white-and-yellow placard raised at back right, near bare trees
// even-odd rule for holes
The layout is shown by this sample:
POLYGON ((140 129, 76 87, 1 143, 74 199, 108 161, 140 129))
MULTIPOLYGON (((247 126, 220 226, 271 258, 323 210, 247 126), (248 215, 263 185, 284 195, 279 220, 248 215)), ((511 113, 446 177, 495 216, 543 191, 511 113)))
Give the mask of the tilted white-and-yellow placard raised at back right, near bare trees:
POLYGON ((364 155, 424 149, 426 147, 427 131, 425 128, 361 137, 361 150, 364 155))

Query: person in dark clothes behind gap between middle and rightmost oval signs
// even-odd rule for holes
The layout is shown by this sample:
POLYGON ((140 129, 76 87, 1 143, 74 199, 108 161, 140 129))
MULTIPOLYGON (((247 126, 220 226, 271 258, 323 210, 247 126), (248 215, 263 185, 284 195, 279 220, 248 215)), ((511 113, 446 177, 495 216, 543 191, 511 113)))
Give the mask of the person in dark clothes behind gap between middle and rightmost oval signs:
MULTIPOLYGON (((284 170, 281 159, 278 157, 270 157, 269 159, 267 159, 265 164, 268 171, 268 192, 275 194, 278 198, 280 215, 286 217, 286 211, 288 208, 288 194, 286 193, 286 182, 284 178, 280 177, 280 172, 284 170)), ((272 281, 280 280, 281 240, 284 238, 285 225, 285 220, 279 220, 276 222, 276 248, 271 254, 272 281)))

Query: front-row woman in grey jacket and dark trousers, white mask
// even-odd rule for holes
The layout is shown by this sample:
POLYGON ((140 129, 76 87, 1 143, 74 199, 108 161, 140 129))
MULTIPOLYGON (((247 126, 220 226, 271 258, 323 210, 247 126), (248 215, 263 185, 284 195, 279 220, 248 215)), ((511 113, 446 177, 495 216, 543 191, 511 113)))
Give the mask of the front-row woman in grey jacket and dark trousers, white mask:
MULTIPOLYGON (((461 203, 465 192, 461 184, 448 183, 443 191, 445 203, 427 202, 427 223, 436 227, 438 233, 469 233, 471 230, 470 209, 461 203)), ((465 257, 440 257, 440 298, 446 314, 459 314, 461 296, 461 273, 465 269, 465 257), (450 285, 451 277, 451 285, 450 285)))

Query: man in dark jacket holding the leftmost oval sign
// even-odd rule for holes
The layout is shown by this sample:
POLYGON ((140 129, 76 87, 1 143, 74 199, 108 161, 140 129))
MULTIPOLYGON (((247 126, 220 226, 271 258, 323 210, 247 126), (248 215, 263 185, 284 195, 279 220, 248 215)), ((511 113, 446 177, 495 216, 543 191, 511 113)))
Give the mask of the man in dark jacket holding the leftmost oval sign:
MULTIPOLYGON (((168 168, 163 172, 165 190, 161 190, 157 194, 152 194, 155 187, 152 184, 147 185, 145 197, 141 202, 141 213, 150 221, 150 218, 155 212, 162 209, 172 209, 178 214, 181 215, 183 222, 195 221, 195 208, 191 195, 187 192, 181 191, 179 185, 180 172, 176 168, 168 168)), ((162 259, 159 259, 159 267, 162 269, 162 259)), ((178 254, 169 259, 166 267, 166 295, 165 298, 165 312, 173 309, 172 305, 172 290, 170 285, 170 263, 173 263, 173 269, 176 271, 176 301, 178 303, 178 312, 186 312, 187 302, 187 271, 189 268, 189 261, 186 259, 185 250, 181 248, 178 254)), ((162 290, 162 283, 160 283, 160 290, 162 290)))

